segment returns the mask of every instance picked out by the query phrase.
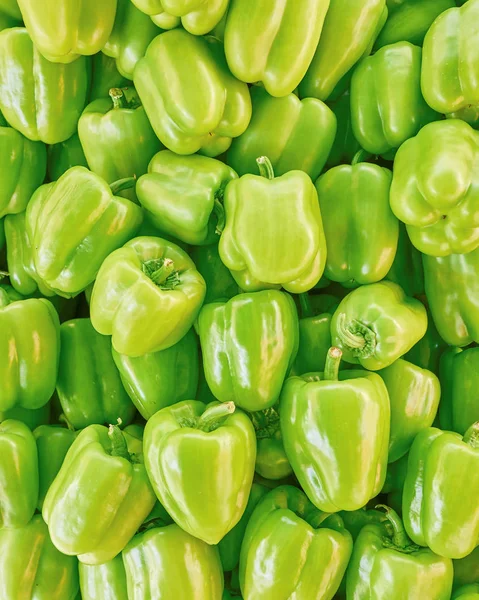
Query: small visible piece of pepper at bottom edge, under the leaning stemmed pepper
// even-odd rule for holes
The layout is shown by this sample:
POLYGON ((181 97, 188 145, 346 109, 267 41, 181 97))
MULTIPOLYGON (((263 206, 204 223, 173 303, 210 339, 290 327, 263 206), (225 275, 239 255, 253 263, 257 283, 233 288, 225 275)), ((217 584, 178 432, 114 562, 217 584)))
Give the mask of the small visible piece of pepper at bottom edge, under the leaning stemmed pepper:
POLYGON ((129 600, 122 555, 101 565, 78 564, 82 600, 129 600))

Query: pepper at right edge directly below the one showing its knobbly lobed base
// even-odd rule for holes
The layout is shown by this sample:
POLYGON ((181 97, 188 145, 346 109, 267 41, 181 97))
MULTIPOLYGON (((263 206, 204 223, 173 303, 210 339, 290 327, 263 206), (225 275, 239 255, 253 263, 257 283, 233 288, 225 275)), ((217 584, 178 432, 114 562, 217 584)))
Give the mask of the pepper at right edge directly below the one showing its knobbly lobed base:
POLYGON ((441 338, 451 346, 479 341, 479 249, 423 256, 426 296, 441 338))

